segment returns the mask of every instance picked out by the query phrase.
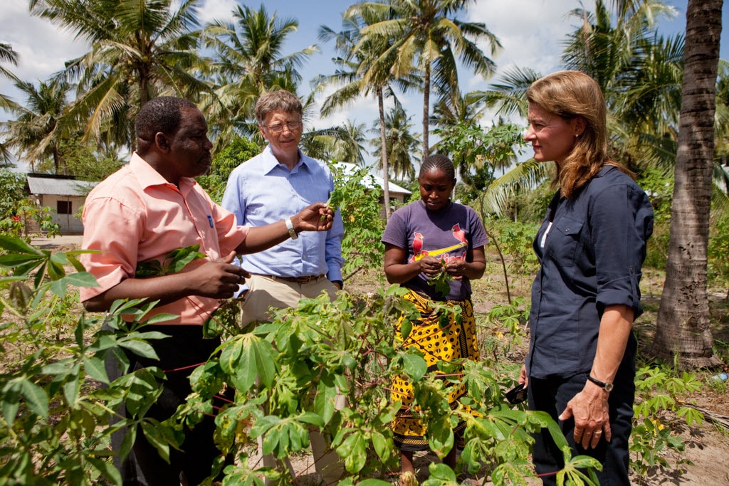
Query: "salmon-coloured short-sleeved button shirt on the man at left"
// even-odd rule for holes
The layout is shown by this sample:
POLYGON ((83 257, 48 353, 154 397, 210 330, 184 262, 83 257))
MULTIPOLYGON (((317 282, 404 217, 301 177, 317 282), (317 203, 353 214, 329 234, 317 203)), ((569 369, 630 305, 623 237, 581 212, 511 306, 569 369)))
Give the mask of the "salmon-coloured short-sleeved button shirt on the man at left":
MULTIPOLYGON (((200 245, 207 259, 219 259, 235 250, 248 233, 195 179, 183 177, 178 189, 136 152, 127 166, 90 192, 82 218, 82 248, 101 251, 79 258, 99 284, 81 289, 82 302, 133 278, 141 262, 163 262, 170 251, 192 245, 200 245)), ((197 259, 182 272, 205 261, 197 259)), ((202 325, 218 306, 218 299, 189 296, 156 307, 148 317, 171 313, 179 317, 161 324, 202 325)))

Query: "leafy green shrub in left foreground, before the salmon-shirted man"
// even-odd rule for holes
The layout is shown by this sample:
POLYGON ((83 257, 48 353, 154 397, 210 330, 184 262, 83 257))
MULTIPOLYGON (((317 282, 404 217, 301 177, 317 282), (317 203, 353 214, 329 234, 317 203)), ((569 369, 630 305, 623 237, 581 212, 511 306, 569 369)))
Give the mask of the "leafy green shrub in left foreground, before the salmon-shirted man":
MULTIPOLYGON (((0 327, 0 351, 6 356, 6 368, 0 374, 0 483, 120 484, 119 472, 109 460, 110 434, 137 423, 151 436, 165 430, 144 418, 159 393, 155 380, 159 372, 141 369, 109 383, 104 360, 109 353, 124 356, 122 347, 155 357, 145 340, 160 335, 140 332, 139 325, 154 303, 139 309, 134 308, 139 301, 117 303, 98 318, 83 314, 74 320, 63 318, 58 313, 68 311, 69 299, 76 295, 70 287, 96 285, 75 259, 79 252, 50 254, 4 235, 0 235, 0 248, 7 251, 0 256, 0 267, 14 270, 14 275, 0 278, 0 310, 12 316, 0 327), (64 266, 69 264, 79 272, 67 275, 64 266), (52 315, 46 305, 49 299, 60 306, 50 309, 52 315), (133 322, 123 321, 122 313, 131 313, 133 322), (128 334, 100 331, 102 324, 126 329, 128 334), (61 325, 73 330, 71 342, 58 342, 61 325), (47 338, 49 331, 56 339, 47 338), (91 334, 93 339, 87 342, 91 334), (31 351, 17 361, 7 360, 7 347, 18 342, 31 351), (100 388, 101 383, 106 388, 100 388), (112 426, 109 418, 122 402, 137 413, 112 426)), ((174 438, 174 429, 168 430, 174 438)), ((174 441, 160 443, 160 450, 168 449, 169 442, 174 441)))

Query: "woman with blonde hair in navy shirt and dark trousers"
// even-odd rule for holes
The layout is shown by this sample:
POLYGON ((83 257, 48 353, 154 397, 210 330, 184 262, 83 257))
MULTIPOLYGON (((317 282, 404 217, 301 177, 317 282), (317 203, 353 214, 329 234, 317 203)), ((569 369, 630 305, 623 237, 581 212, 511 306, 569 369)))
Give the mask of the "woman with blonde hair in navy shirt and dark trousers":
MULTIPOLYGON (((628 485, 635 397, 639 281, 653 212, 634 173, 607 154, 599 85, 578 71, 537 80, 526 92, 534 160, 554 161, 558 187, 534 239, 530 345, 520 382, 529 408, 558 420, 572 455, 602 464, 601 485, 628 485)), ((534 465, 556 484, 564 455, 535 435, 534 465)))

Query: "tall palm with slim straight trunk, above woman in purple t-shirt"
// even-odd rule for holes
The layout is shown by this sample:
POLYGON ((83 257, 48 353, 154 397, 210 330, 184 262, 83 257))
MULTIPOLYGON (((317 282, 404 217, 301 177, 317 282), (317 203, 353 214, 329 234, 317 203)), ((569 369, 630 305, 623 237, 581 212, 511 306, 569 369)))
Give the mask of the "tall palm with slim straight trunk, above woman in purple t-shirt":
MULTIPOLYGON (((484 23, 462 22, 453 15, 467 8, 469 0, 393 0, 389 4, 367 2, 357 8, 391 12, 362 30, 363 39, 385 37, 376 65, 390 69, 396 78, 405 77, 416 66, 423 77, 423 157, 429 153, 428 131, 432 87, 440 97, 459 93, 457 60, 483 77, 494 72, 494 62, 477 47, 478 41, 491 46, 491 55, 501 47, 484 23), (393 61, 394 55, 394 61, 393 61)), ((351 7, 351 8, 354 8, 351 7)))

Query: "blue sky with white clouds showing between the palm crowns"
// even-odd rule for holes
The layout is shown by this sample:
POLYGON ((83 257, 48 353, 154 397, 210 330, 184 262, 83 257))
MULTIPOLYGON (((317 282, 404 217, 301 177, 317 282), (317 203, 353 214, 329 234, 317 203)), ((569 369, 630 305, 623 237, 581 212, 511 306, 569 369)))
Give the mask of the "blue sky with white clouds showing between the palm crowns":
MULTIPOLYGON (((303 75, 303 86, 300 95, 308 94, 309 80, 318 74, 332 74, 334 66, 332 42, 319 42, 319 27, 329 26, 334 31, 341 27, 341 13, 355 0, 268 0, 265 7, 269 15, 276 13, 278 17, 298 20, 298 31, 290 34, 284 53, 295 52, 312 44, 319 44, 321 52, 313 55, 311 60, 300 71, 303 75)), ((238 3, 254 9, 260 7, 260 1, 238 0, 238 3)), ((582 3, 593 9, 590 0, 582 3)), ((674 20, 659 20, 659 30, 665 35, 685 30, 685 13, 687 0, 668 0, 665 2, 677 10, 674 20)), ((200 0, 198 14, 205 23, 213 19, 227 19, 235 7, 236 0, 200 0)), ((580 8, 580 0, 476 0, 467 12, 460 14, 461 20, 483 22, 502 43, 499 55, 493 57, 496 62, 496 79, 504 68, 513 66, 529 67, 541 74, 548 74, 560 68, 561 43, 567 33, 574 31, 577 20, 568 17, 568 12, 580 8)), ((729 1, 724 2, 722 12, 724 18, 729 16, 729 1)), ((720 55, 729 59, 729 33, 722 31, 720 55)), ((9 43, 20 55, 18 66, 8 66, 20 79, 34 81, 47 79, 52 73, 63 68, 66 60, 77 57, 87 51, 83 42, 74 40, 69 32, 59 30, 47 20, 31 17, 28 14, 28 0, 3 0, 0 9, 0 42, 9 43)), ((481 46, 484 52, 490 52, 487 46, 481 46)), ((493 81, 494 79, 491 79, 493 81)), ((472 74, 461 74, 461 89, 465 92, 483 90, 489 81, 472 74)), ((333 88, 332 88, 333 89, 333 88)), ((0 79, 0 93, 22 102, 23 99, 7 79, 0 79)), ((415 94, 404 98, 403 104, 408 114, 412 115, 414 130, 421 127, 421 95, 415 94)), ((357 101, 346 110, 327 119, 313 118, 308 120, 311 128, 324 128, 340 125, 347 119, 351 122, 364 123, 367 128, 377 118, 375 100, 357 101)), ((7 114, 0 111, 0 121, 7 119, 7 114)))

